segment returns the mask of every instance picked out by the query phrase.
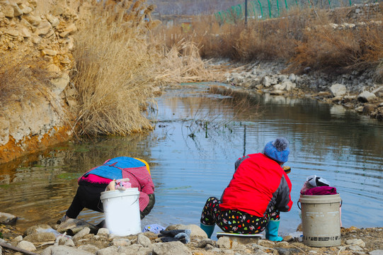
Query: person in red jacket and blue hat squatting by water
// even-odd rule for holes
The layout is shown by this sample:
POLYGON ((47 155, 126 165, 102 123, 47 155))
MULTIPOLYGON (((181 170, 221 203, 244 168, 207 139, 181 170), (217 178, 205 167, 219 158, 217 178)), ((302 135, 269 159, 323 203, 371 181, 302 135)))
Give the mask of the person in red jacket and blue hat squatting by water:
POLYGON ((235 163, 235 172, 222 198, 207 199, 201 228, 211 237, 217 224, 224 232, 256 234, 266 230, 266 238, 278 237, 280 212, 292 207, 291 182, 282 169, 290 149, 285 138, 268 142, 263 153, 248 154, 235 163))

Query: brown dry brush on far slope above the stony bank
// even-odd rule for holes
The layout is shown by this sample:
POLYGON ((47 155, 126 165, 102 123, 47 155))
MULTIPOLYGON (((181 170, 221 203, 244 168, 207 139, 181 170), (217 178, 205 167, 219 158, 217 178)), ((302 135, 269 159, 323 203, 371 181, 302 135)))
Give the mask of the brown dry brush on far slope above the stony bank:
MULTIPOLYGON (((372 8, 378 9, 365 11, 357 21, 350 16, 350 8, 291 8, 281 18, 248 20, 247 26, 200 16, 194 18, 188 33, 175 28, 159 28, 156 33, 195 42, 205 58, 282 60, 290 64, 289 72, 302 72, 305 67, 331 72, 376 69, 377 79, 382 79, 383 5, 372 8), (329 26, 332 23, 338 28, 329 26), (339 29, 343 23, 357 26, 339 29)), ((168 42, 168 47, 176 43, 168 42)))

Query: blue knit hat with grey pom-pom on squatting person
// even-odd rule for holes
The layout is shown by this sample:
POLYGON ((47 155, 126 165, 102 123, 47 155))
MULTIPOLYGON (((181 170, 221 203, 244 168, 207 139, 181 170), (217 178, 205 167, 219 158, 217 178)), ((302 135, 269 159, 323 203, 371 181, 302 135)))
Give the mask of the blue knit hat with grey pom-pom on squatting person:
POLYGON ((274 159, 276 162, 285 163, 289 159, 290 154, 289 141, 286 138, 280 137, 268 142, 263 149, 263 154, 274 159))

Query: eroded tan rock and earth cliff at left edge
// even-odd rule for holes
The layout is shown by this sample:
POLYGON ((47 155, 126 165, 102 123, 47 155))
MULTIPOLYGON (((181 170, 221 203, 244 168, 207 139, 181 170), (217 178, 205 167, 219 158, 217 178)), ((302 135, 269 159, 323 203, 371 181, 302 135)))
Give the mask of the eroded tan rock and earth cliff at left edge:
MULTIPOLYGON (((7 95, 6 103, 0 101, 0 164, 72 137, 69 71, 74 68, 77 2, 0 0, 0 67, 25 58, 46 60, 44 68, 52 74, 46 83, 30 81, 7 95)), ((0 89, 4 86, 13 84, 0 84, 0 89)))

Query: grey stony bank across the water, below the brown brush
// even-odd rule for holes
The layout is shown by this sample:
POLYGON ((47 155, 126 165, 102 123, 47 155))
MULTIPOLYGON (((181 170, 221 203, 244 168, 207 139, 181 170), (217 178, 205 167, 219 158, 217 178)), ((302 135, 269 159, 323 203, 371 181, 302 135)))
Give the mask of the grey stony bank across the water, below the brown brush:
POLYGON ((383 120, 383 84, 374 80, 375 70, 363 74, 285 74, 279 62, 255 62, 227 72, 226 82, 262 94, 316 98, 383 120))

